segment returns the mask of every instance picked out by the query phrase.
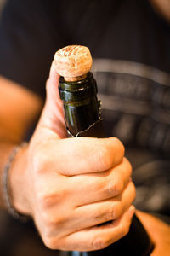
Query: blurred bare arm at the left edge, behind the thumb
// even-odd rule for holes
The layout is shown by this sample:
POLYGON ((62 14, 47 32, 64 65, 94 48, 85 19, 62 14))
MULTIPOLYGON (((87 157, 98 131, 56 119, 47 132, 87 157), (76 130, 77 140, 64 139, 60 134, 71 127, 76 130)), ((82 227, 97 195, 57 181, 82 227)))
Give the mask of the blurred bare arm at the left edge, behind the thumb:
MULTIPOLYGON (((19 84, 0 77, 0 181, 12 148, 26 136, 42 108, 41 99, 19 84)), ((0 194, 0 206, 3 206, 0 194)))

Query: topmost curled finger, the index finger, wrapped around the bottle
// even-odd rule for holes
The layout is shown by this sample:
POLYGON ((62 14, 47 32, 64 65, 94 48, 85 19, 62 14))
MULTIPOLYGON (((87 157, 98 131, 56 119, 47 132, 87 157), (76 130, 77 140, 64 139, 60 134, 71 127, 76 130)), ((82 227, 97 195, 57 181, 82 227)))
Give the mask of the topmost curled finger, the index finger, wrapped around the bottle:
MULTIPOLYGON (((52 142, 53 143, 53 142, 52 142)), ((40 164, 44 172, 56 170, 65 176, 82 173, 104 172, 122 162, 124 147, 116 138, 77 137, 59 140, 44 148, 40 164), (47 151, 50 154, 47 154, 47 151), (48 170, 47 170, 48 163, 48 170)))

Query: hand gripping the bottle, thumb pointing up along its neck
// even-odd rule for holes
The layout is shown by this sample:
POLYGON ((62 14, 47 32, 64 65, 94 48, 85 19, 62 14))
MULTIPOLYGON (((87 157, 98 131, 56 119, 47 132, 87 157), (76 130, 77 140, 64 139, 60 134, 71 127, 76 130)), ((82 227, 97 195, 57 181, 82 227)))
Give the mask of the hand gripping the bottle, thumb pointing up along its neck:
POLYGON ((132 167, 116 138, 66 138, 58 79, 53 64, 42 117, 11 170, 14 207, 31 215, 49 248, 102 249, 129 230, 132 167))

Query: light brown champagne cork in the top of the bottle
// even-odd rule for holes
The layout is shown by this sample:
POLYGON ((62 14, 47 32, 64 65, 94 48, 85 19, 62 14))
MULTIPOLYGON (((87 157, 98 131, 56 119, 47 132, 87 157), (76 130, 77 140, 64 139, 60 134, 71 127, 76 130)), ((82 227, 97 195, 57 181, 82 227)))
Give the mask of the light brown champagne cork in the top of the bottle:
POLYGON ((90 71, 92 56, 86 46, 69 45, 55 53, 54 63, 65 81, 78 81, 84 79, 90 71))

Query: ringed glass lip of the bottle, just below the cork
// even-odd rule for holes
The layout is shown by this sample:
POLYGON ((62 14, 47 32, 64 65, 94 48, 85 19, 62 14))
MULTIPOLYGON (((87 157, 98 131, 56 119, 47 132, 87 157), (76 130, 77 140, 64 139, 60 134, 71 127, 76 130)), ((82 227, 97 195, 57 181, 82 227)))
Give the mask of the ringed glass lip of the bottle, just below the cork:
POLYGON ((89 87, 89 82, 94 81, 93 73, 88 72, 87 77, 78 81, 65 81, 64 77, 59 78, 59 85, 63 90, 80 90, 89 87))

